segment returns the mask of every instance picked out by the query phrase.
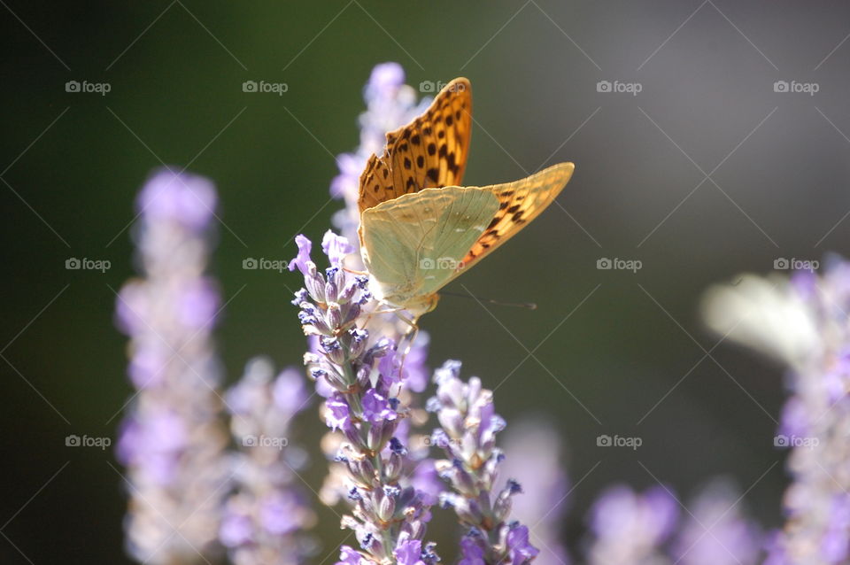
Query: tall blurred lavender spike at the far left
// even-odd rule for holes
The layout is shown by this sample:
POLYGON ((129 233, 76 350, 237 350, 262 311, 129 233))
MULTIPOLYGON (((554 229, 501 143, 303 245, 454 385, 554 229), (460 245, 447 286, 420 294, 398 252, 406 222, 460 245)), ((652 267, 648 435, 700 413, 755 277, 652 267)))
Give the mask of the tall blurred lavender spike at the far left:
POLYGON ((144 563, 206 561, 227 491, 211 337, 220 298, 204 275, 215 202, 204 178, 170 170, 151 177, 137 201, 144 278, 127 283, 116 305, 137 391, 118 444, 131 498, 127 545, 144 563))

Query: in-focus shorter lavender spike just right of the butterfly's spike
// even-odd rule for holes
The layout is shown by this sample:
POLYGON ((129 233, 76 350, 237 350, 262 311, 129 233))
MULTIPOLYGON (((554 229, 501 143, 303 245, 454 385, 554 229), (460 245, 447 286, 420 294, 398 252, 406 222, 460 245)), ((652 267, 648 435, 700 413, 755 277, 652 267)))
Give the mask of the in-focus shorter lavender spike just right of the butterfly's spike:
POLYGON ((429 401, 429 409, 437 412, 441 425, 431 442, 448 456, 435 463, 437 473, 451 486, 451 491, 441 493, 440 502, 452 507, 467 528, 461 563, 529 563, 539 552, 529 543, 528 527, 508 522, 511 499, 522 491, 520 484, 508 479, 505 488, 494 492, 504 457, 496 447, 496 435, 505 429, 505 421, 495 413, 493 393, 483 389, 478 378, 463 383, 459 375, 460 361, 446 361, 437 369, 437 396, 429 401))

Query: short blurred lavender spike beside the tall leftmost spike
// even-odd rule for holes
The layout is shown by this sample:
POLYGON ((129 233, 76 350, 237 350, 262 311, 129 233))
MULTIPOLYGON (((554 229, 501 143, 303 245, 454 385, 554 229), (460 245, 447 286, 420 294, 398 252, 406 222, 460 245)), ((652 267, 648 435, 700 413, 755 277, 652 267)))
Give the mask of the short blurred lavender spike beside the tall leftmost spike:
POLYGON ((274 377, 269 360, 251 360, 228 391, 236 492, 228 499, 220 540, 234 565, 298 565, 313 547, 304 530, 315 516, 298 488, 305 452, 290 442, 293 418, 308 406, 304 376, 294 368, 274 377))

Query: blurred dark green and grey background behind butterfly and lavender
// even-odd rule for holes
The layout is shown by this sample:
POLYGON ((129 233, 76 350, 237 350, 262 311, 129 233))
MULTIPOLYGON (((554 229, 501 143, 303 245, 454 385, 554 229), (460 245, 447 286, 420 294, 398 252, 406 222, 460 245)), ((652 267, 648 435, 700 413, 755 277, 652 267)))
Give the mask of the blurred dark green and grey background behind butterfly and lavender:
MULTIPOLYGON (((413 85, 472 81, 469 184, 576 163, 560 206, 450 289, 539 309, 491 316, 444 298, 421 324, 431 364, 462 359, 467 375, 498 387, 508 422, 553 422, 574 480, 601 461, 573 493, 565 535, 579 535, 606 484, 657 478, 687 495, 718 474, 752 487, 748 506, 777 525, 782 370, 731 344, 713 349, 699 298, 779 257, 848 251, 850 7, 2 4, 2 561, 126 560, 112 453, 66 448, 64 438, 114 437, 131 392, 112 289, 134 272, 126 228, 149 171, 189 165, 219 187, 227 228, 213 268, 225 299, 238 293, 218 331, 228 380, 258 353, 298 363, 304 343, 284 288, 297 277, 245 271, 242 260, 289 259, 298 231, 318 238, 328 228, 340 205, 328 204, 333 156, 357 145, 362 85, 387 60, 413 85), (112 90, 67 93, 70 80, 112 90), (289 91, 243 93, 246 80, 289 91), (603 80, 642 91, 600 93, 603 80), (779 80, 819 91, 777 93, 779 80), (70 257, 112 268, 67 271, 70 257), (598 270, 603 257, 643 268, 598 270), (599 434, 644 444, 603 449, 599 434)), ((314 411, 302 427, 317 487, 314 411)), ((329 551, 343 532, 334 515, 321 519, 329 551)))

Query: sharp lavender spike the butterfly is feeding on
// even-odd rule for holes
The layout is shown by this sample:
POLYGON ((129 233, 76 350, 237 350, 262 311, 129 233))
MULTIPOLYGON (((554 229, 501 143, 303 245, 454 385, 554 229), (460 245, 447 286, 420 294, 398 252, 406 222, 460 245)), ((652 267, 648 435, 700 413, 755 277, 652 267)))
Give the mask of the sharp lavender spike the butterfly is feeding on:
POLYGON ((305 354, 305 364, 317 390, 328 394, 328 428, 344 435, 336 459, 348 470, 352 515, 344 516, 342 525, 354 530, 359 542, 359 550, 342 548, 339 563, 432 565, 439 557, 432 544, 422 543, 429 506, 404 475, 407 449, 396 437, 408 415, 398 399, 403 375, 385 374, 380 360, 395 354, 393 343, 374 339, 365 329, 365 313, 375 308, 367 278, 340 267, 352 251, 344 238, 325 237, 322 248, 332 267, 324 274, 309 257, 309 240, 300 236, 297 242, 298 257, 290 267, 302 272, 305 288, 293 303, 305 334, 318 338, 318 349, 305 354))

